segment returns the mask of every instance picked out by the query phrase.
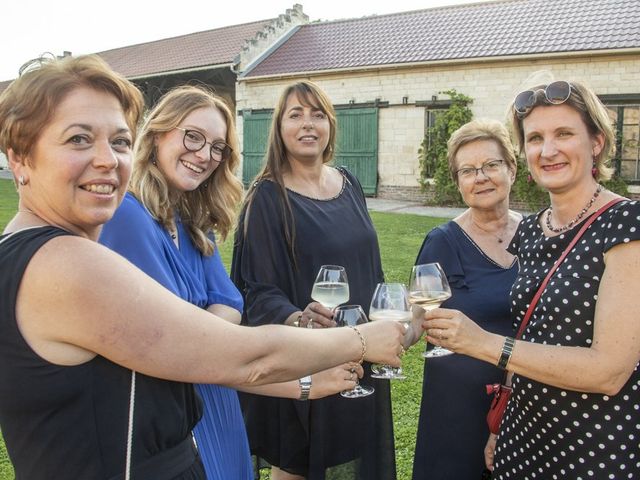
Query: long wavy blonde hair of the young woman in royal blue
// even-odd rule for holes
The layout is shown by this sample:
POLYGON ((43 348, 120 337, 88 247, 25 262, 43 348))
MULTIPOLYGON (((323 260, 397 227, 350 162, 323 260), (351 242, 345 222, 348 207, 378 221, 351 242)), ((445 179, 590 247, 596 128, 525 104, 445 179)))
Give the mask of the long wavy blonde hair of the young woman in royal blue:
POLYGON ((176 87, 163 95, 140 130, 129 191, 165 228, 172 223, 175 208, 196 248, 204 255, 211 255, 214 244, 209 234, 216 231, 222 240, 227 237, 242 198, 242 184, 235 176, 240 163, 238 150, 234 118, 224 100, 204 87, 176 87), (167 181, 155 164, 154 140, 156 135, 173 130, 200 108, 215 108, 223 115, 227 124, 225 142, 232 153, 199 188, 182 193, 172 204, 167 181))

